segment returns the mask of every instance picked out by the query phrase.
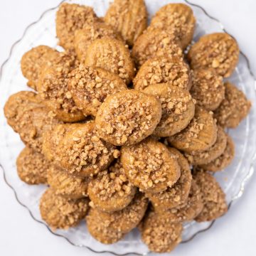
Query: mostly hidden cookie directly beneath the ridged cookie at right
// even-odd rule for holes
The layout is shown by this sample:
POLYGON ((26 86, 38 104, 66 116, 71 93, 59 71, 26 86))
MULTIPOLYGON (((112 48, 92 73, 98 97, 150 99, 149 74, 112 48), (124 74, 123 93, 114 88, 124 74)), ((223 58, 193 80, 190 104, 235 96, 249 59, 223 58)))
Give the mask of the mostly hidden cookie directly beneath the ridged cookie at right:
POLYGON ((225 147, 227 145, 227 135, 225 134, 223 128, 218 126, 217 130, 217 140, 213 146, 203 152, 196 152, 188 154, 186 153, 185 156, 188 161, 193 165, 202 165, 208 164, 211 161, 217 159, 223 152, 225 151, 225 147))

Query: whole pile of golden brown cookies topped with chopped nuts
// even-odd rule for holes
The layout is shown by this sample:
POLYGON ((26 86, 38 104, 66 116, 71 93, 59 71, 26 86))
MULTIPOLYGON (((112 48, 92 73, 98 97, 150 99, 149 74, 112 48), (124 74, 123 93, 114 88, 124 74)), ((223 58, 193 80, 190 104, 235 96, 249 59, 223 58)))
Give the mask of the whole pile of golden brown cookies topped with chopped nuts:
POLYGON ((223 82, 238 63, 235 39, 213 33, 191 46, 195 24, 185 4, 163 6, 147 26, 143 0, 115 0, 103 18, 64 3, 63 52, 23 55, 33 91, 11 95, 4 112, 26 144, 18 176, 50 186, 40 210, 51 228, 85 218, 110 244, 138 227, 149 250, 169 252, 184 222, 228 210, 213 173, 231 163, 225 128, 240 124, 250 102, 223 82))

